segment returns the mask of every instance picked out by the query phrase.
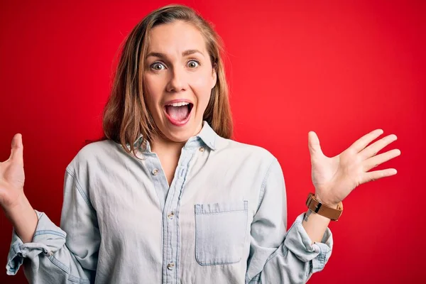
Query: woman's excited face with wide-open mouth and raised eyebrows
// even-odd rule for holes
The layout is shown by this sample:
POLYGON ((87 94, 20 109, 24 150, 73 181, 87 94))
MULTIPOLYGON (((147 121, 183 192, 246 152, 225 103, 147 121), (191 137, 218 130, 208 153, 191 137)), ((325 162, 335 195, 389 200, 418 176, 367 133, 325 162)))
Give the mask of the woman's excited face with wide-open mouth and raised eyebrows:
POLYGON ((163 138, 197 135, 217 80, 200 31, 182 21, 155 26, 144 72, 146 104, 163 138))

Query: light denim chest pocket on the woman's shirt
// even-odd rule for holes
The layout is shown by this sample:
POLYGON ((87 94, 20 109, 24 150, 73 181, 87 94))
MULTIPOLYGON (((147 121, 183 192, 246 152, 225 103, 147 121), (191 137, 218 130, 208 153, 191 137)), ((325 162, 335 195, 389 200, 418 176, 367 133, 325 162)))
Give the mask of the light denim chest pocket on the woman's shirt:
POLYGON ((248 201, 195 204, 195 258, 202 266, 241 261, 248 201))

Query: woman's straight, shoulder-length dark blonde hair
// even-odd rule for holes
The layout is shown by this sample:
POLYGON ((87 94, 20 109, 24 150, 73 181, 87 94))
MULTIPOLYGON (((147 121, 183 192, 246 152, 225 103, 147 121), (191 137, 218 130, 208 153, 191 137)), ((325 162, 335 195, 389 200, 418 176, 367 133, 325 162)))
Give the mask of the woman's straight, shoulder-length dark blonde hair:
MULTIPOLYGON (((121 56, 114 76, 111 94, 104 107, 102 126, 104 138, 120 143, 127 153, 136 156, 133 143, 140 134, 142 148, 146 141, 158 134, 153 117, 148 111, 144 97, 143 72, 148 52, 149 34, 153 27, 185 21, 194 25, 202 33, 206 42, 212 67, 217 72, 217 83, 212 89, 203 120, 224 138, 231 138, 233 123, 229 105, 228 84, 226 83, 222 40, 212 26, 193 9, 183 5, 168 5, 152 11, 129 33, 122 46, 121 56), (126 144, 130 145, 130 149, 126 144)), ((137 157, 136 157, 137 158, 137 157)))

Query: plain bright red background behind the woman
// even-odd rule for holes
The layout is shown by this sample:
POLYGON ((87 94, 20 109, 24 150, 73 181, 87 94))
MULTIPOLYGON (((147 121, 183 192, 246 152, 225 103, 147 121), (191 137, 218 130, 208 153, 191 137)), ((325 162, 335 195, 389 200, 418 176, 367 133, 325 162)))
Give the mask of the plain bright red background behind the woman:
MULTIPOLYGON (((59 224, 66 165, 99 138, 119 44, 167 1, 1 1, 0 160, 22 133, 25 192, 59 224), (21 3, 20 3, 21 2, 21 3)), ((381 128, 398 174, 358 187, 330 224, 334 251, 310 283, 417 283, 425 250, 426 1, 181 1, 224 39, 235 139, 278 157, 288 224, 312 191, 308 131, 325 155, 381 128), (392 3, 391 3, 392 2, 392 3)), ((381 151, 381 152, 383 152, 381 151)), ((0 214, 0 283, 11 224, 0 214)))

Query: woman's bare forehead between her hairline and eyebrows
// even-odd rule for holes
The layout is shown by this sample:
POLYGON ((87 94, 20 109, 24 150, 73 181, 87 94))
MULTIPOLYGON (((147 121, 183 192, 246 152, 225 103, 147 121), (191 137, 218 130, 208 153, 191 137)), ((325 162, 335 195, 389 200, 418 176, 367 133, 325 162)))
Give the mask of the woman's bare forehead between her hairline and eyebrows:
POLYGON ((206 54, 205 40, 200 31, 190 23, 174 21, 155 26, 149 35, 148 53, 182 54, 197 49, 206 54))

